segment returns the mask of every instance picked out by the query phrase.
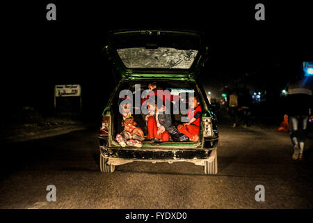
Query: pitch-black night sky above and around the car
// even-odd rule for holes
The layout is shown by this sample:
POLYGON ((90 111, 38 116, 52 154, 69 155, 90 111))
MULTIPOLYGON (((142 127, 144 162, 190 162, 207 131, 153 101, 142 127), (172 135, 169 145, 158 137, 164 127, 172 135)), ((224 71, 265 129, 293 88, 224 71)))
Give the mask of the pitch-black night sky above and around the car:
POLYGON ((204 31, 209 46, 204 85, 220 88, 244 77, 255 89, 278 95, 300 61, 313 61, 308 2, 51 0, 5 4, 1 7, 2 121, 13 122, 14 114, 26 106, 53 115, 54 84, 81 84, 83 119, 97 120, 114 86, 111 68, 102 55, 110 29, 204 31), (56 21, 46 20, 48 3, 56 4, 56 21), (256 3, 264 3, 265 21, 255 20, 256 3))

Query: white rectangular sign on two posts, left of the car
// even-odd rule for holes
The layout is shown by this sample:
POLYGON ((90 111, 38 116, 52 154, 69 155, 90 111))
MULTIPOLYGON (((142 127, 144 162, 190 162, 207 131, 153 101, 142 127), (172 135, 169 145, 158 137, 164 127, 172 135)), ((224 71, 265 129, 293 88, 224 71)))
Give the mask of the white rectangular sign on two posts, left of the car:
POLYGON ((81 86, 80 84, 61 84, 54 88, 54 109, 56 109, 57 97, 79 97, 79 107, 81 110, 81 86))

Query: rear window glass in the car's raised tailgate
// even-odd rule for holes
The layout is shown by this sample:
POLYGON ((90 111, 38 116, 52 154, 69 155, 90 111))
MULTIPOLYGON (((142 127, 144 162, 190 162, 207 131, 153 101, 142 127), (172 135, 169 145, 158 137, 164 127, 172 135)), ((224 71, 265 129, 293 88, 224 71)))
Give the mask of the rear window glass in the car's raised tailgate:
POLYGON ((195 49, 145 47, 117 49, 118 55, 127 68, 172 68, 189 69, 198 54, 195 49))

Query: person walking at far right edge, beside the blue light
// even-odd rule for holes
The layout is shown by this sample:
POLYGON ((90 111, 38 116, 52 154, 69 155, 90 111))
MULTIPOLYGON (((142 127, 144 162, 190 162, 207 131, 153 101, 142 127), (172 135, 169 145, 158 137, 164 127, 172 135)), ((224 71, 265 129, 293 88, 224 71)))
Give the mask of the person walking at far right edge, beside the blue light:
MULTIPOLYGON (((290 138, 294 145, 293 160, 303 159, 307 121, 311 115, 311 108, 312 89, 306 86, 303 78, 296 77, 296 79, 289 84, 287 95, 287 115, 289 117, 290 138)), ((313 116, 310 118, 313 118, 313 116)))

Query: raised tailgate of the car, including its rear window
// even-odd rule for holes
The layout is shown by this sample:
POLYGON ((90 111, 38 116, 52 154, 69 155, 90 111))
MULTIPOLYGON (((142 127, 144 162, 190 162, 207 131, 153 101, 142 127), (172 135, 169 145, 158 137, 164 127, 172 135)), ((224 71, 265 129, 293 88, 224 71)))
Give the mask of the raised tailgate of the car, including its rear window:
POLYGON ((108 38, 104 51, 119 79, 195 79, 207 59, 203 33, 198 31, 110 31, 108 38))

